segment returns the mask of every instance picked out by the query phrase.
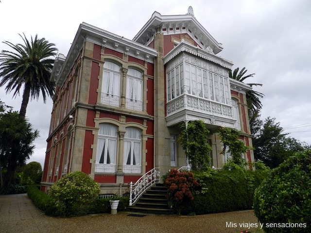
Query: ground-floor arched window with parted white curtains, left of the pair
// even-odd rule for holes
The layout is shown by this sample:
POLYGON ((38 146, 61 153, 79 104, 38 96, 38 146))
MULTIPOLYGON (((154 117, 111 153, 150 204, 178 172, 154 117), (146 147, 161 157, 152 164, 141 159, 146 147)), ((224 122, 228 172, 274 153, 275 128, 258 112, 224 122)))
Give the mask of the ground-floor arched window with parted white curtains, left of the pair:
POLYGON ((117 157, 117 127, 110 124, 100 124, 97 152, 96 172, 115 172, 117 157))

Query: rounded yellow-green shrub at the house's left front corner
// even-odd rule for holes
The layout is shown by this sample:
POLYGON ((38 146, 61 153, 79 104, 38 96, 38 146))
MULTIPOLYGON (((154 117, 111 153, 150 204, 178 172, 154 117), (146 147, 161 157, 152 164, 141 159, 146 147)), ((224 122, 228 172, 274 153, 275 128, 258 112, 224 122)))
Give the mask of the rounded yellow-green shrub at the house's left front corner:
POLYGON ((58 216, 81 216, 89 212, 89 205, 98 198, 100 187, 81 171, 71 172, 54 183, 49 195, 58 216))

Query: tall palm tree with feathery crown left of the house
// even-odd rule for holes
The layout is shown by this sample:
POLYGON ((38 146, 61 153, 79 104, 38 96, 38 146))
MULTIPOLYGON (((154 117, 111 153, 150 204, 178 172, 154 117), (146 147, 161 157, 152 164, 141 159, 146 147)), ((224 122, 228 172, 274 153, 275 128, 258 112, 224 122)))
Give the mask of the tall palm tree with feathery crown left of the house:
POLYGON ((19 116, 25 117, 30 97, 38 100, 41 92, 45 103, 47 95, 54 95, 55 83, 50 81, 50 77, 57 49, 55 44, 45 38, 39 39, 37 35, 35 39, 31 37, 31 41, 25 34, 24 37, 19 35, 24 44, 3 42, 13 51, 2 50, 0 53, 0 86, 6 84, 6 93, 14 90, 13 97, 19 95, 24 86, 19 116))

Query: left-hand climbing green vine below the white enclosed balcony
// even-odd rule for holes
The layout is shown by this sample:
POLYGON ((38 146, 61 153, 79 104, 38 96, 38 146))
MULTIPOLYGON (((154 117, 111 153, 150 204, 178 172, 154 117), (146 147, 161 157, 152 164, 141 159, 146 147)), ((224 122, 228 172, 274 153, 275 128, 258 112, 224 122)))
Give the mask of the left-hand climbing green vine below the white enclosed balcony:
POLYGON ((191 164, 192 170, 207 170, 210 163, 209 152, 212 150, 207 143, 207 130, 203 120, 192 120, 183 123, 178 138, 191 164))

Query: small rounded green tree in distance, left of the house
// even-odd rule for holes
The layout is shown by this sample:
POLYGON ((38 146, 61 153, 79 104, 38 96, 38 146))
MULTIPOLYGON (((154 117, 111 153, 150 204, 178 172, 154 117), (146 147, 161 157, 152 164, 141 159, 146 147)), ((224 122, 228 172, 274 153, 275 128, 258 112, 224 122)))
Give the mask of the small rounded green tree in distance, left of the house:
POLYGON ((39 184, 42 177, 42 166, 38 162, 30 162, 23 170, 23 184, 39 184))

